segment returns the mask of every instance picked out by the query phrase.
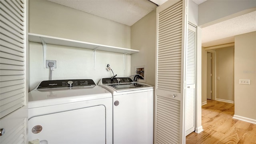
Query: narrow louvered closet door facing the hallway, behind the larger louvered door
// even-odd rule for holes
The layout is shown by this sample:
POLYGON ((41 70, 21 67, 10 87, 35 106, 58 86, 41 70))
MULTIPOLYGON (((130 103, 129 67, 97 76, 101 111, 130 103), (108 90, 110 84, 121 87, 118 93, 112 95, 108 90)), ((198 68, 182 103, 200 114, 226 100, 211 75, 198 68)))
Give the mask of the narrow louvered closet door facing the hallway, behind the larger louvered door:
POLYGON ((188 43, 186 48, 186 94, 185 94, 185 129, 186 136, 195 131, 195 96, 196 96, 196 28, 188 25, 188 43))

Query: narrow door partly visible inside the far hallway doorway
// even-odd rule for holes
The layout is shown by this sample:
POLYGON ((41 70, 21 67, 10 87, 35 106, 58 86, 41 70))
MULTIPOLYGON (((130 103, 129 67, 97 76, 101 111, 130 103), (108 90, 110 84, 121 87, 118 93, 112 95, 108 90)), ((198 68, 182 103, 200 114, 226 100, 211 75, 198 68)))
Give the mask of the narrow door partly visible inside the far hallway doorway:
POLYGON ((207 99, 212 99, 212 53, 207 53, 207 99))

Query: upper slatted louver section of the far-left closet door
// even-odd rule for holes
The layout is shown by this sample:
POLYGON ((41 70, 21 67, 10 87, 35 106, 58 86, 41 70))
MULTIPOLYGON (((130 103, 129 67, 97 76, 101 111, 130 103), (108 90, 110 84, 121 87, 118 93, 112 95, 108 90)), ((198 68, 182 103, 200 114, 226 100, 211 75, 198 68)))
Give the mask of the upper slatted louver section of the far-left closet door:
POLYGON ((0 118, 24 106, 24 3, 0 1, 0 118))

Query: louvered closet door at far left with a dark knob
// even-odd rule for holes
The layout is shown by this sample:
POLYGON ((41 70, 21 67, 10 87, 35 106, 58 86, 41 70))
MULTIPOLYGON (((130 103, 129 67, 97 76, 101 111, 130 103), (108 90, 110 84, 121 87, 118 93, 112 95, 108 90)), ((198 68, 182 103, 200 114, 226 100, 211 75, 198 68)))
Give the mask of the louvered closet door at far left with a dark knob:
POLYGON ((0 0, 1 144, 26 143, 26 1, 0 0))

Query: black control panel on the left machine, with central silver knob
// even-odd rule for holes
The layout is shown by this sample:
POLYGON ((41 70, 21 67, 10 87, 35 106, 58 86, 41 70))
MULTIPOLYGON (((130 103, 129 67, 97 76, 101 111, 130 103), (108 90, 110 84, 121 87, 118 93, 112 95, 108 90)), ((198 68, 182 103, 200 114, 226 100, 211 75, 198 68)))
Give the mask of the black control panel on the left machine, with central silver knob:
POLYGON ((37 89, 45 88, 66 88, 66 87, 78 87, 78 86, 96 86, 91 79, 79 79, 79 80, 45 80, 42 81, 37 89))

